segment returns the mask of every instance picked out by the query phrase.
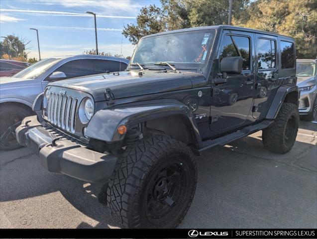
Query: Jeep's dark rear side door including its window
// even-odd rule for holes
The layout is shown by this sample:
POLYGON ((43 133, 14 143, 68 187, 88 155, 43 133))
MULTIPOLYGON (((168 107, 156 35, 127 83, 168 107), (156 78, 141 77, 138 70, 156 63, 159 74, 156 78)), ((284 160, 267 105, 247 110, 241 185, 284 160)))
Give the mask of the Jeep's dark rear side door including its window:
POLYGON ((255 34, 257 74, 254 94, 254 119, 264 118, 274 96, 276 82, 279 78, 277 37, 255 34))

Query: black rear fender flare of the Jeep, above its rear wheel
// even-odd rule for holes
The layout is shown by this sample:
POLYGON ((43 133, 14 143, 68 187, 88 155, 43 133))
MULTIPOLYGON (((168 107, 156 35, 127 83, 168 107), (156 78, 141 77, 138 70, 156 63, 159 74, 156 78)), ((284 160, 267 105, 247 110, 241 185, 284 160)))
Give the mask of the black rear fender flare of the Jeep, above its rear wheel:
POLYGON ((280 111, 282 103, 285 101, 285 98, 290 93, 296 94, 296 98, 297 98, 296 103, 298 105, 298 99, 300 97, 298 86, 293 84, 282 85, 277 89, 275 93, 275 96, 271 102, 270 108, 266 114, 266 117, 265 117, 266 119, 275 119, 277 117, 277 114, 280 111))

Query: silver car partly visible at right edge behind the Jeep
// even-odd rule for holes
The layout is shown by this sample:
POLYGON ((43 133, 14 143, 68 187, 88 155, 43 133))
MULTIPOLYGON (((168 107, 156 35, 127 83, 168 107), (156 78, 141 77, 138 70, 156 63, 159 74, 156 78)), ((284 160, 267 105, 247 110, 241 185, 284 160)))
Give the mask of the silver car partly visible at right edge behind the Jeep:
POLYGON ((301 91, 300 115, 317 121, 317 60, 298 59, 296 64, 297 86, 301 91))

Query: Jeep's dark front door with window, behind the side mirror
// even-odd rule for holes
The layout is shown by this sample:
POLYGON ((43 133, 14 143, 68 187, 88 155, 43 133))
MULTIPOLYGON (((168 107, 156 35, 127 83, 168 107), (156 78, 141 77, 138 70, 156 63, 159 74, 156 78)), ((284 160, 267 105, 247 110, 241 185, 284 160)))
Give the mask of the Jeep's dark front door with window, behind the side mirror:
POLYGON ((227 74, 226 83, 215 85, 212 81, 211 131, 229 131, 253 121, 252 106, 255 86, 253 33, 224 31, 222 46, 219 48, 216 64, 218 77, 221 59, 241 56, 243 66, 241 74, 227 74))

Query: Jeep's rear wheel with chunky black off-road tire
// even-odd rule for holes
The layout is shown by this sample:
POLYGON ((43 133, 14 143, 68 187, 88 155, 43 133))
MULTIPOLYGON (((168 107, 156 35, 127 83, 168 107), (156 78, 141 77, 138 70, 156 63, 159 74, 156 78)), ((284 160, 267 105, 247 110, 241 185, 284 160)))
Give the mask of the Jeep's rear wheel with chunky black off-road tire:
POLYGON ((299 127, 298 107, 283 103, 274 122, 262 131, 264 147, 274 153, 287 153, 293 147, 299 127))

